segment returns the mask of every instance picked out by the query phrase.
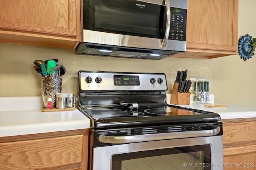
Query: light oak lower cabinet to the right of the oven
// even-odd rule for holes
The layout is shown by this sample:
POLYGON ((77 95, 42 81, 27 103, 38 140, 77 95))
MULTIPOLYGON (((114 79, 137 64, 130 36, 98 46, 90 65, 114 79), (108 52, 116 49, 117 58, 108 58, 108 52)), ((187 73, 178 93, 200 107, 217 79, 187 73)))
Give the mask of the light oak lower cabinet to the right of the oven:
POLYGON ((256 118, 222 122, 224 170, 256 170, 256 118))

